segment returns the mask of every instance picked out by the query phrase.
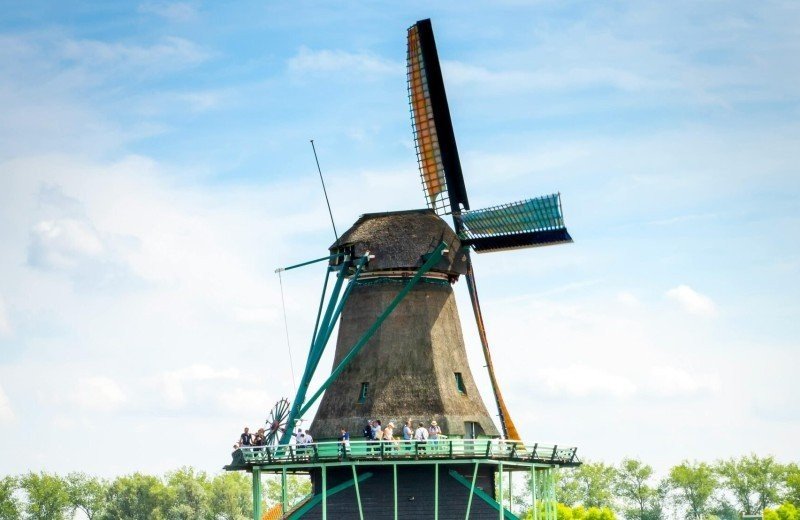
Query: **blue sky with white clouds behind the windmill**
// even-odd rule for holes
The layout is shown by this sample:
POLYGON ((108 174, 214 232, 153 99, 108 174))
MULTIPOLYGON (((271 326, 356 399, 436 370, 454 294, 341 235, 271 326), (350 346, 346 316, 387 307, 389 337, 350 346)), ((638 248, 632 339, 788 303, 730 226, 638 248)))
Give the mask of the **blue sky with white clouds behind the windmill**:
POLYGON ((216 472, 293 396, 324 267, 285 306, 274 271, 333 239, 309 140, 340 230, 424 206, 428 17, 472 207, 560 192, 575 240, 474 258, 524 439, 800 459, 800 4, 11 0, 0 474, 216 472))

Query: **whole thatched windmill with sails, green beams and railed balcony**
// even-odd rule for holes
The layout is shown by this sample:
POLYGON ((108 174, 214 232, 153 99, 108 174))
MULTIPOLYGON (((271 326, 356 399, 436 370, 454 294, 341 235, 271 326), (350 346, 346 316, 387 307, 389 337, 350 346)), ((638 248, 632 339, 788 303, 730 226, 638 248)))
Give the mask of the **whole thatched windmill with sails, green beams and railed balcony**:
POLYGON ((560 196, 470 209, 430 20, 408 30, 408 87, 428 207, 362 215, 319 259, 328 268, 306 368, 291 407, 279 403, 268 424, 279 442, 244 448, 228 469, 253 472, 254 496, 260 496, 262 471, 284 479, 287 472, 306 472, 312 496, 294 507, 284 499, 274 512, 337 519, 516 518, 502 504, 503 475, 529 471, 549 483, 539 499, 551 517, 552 469, 579 464, 576 449, 521 441, 494 374, 470 255, 570 242, 560 196), (452 219, 452 228, 445 219, 452 219), (453 294, 461 278, 502 441, 467 362, 453 294), (331 373, 309 397, 337 322, 331 373), (287 425, 308 419, 320 397, 310 426, 318 442, 290 444, 287 425), (357 443, 367 419, 394 422, 396 434, 406 420, 415 427, 435 420, 448 438, 357 443), (342 428, 353 434, 348 447, 336 441, 342 428))

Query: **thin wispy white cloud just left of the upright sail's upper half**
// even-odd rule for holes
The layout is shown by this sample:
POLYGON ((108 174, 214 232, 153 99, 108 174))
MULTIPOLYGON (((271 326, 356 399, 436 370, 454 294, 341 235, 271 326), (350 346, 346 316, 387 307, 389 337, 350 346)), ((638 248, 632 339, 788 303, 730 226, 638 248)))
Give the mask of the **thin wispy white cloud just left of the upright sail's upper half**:
POLYGON ((389 61, 374 54, 329 49, 314 51, 308 47, 301 47, 298 53, 289 59, 289 70, 292 72, 324 72, 326 74, 339 72, 350 76, 353 74, 401 74, 404 69, 405 66, 402 63, 389 61))

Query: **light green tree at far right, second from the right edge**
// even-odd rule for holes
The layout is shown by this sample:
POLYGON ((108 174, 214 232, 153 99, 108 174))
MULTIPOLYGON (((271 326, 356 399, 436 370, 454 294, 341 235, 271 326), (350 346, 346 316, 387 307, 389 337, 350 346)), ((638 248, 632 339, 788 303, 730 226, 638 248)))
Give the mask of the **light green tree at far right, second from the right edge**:
POLYGON ((757 514, 778 503, 786 468, 773 457, 751 454, 738 460, 719 461, 714 469, 742 513, 757 514))

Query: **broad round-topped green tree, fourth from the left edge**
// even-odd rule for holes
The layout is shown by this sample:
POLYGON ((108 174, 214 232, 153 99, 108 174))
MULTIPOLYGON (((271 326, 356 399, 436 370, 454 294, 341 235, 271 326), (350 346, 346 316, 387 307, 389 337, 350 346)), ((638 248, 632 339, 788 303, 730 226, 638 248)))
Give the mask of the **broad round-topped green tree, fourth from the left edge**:
POLYGON ((103 517, 108 520, 164 520, 169 505, 169 492, 161 479, 134 473, 117 477, 111 484, 103 517))

